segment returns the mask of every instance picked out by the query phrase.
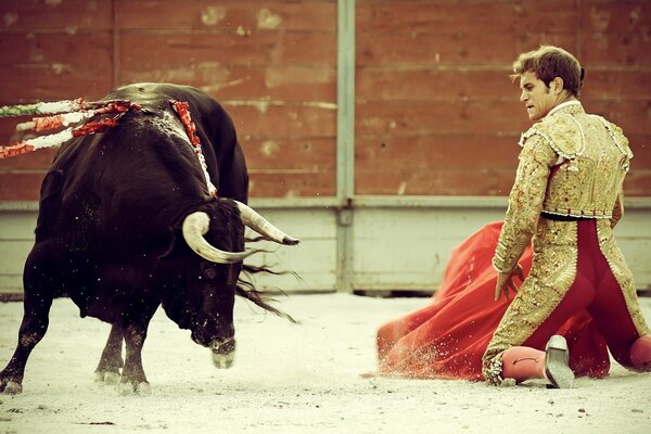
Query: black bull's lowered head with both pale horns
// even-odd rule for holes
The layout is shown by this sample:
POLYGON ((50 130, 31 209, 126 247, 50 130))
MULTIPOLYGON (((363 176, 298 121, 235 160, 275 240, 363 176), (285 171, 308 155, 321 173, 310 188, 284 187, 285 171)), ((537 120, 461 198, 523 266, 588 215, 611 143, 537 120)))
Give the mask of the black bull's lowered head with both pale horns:
POLYGON ((197 309, 192 315, 189 328, 194 342, 212 349, 213 361, 218 368, 229 368, 234 357, 232 311, 242 260, 258 252, 243 251, 242 224, 280 244, 294 245, 299 242, 251 207, 237 201, 232 201, 235 205, 232 207, 232 204, 226 205, 225 202, 230 201, 216 203, 218 206, 209 212, 212 216, 207 212, 189 214, 182 225, 183 239, 188 246, 204 259, 200 259, 199 270, 194 268, 191 281, 188 282, 191 286, 189 291, 195 295, 193 305, 197 309), (233 217, 234 209, 239 210, 241 220, 233 217), (221 218, 217 215, 221 215, 221 218), (216 245, 228 250, 218 248, 216 245))

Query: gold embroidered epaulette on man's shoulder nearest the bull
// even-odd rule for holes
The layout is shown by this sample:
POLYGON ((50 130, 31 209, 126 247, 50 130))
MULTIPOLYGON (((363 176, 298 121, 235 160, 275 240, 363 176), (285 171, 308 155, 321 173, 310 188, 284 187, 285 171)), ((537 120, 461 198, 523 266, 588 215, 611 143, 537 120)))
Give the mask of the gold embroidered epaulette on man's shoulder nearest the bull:
POLYGON ((585 135, 580 124, 569 114, 545 118, 522 133, 520 145, 532 136, 542 140, 560 156, 574 159, 583 155, 586 149, 585 135))

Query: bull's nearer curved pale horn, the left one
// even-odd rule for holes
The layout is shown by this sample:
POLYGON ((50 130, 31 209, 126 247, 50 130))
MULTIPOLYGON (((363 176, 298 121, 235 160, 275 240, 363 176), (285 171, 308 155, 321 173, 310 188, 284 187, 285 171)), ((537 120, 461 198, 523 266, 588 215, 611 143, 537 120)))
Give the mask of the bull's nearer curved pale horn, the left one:
POLYGON ((251 252, 225 252, 210 245, 203 235, 208 231, 210 217, 206 213, 195 212, 189 214, 183 220, 182 231, 186 242, 199 256, 218 264, 233 264, 244 260, 255 253, 251 252))

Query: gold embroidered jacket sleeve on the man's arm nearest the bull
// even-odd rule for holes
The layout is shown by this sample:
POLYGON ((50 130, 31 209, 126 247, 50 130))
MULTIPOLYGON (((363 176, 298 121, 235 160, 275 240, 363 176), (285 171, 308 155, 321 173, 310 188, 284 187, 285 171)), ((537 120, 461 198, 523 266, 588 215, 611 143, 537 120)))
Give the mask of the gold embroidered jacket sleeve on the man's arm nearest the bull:
POLYGON ((542 210, 549 173, 559 157, 540 135, 527 137, 522 145, 505 225, 493 256, 493 266, 500 272, 511 272, 531 242, 542 210))

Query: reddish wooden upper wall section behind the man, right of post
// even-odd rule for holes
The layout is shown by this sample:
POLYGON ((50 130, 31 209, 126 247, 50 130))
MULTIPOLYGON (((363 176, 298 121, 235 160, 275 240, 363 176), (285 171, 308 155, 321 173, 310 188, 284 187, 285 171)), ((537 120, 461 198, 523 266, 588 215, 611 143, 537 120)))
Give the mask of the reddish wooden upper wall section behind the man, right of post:
POLYGON ((651 195, 650 1, 358 0, 356 28, 357 194, 508 194, 529 125, 510 65, 552 43, 630 138, 627 194, 651 195))

